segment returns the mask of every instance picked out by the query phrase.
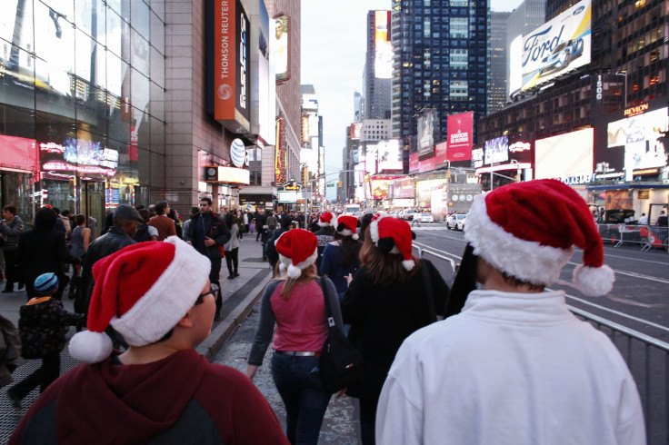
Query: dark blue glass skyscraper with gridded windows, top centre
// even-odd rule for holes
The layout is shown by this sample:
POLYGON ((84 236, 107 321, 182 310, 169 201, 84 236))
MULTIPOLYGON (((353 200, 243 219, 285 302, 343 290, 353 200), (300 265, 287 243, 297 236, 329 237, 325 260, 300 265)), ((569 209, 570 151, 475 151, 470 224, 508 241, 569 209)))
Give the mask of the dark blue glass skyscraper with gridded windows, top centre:
POLYGON ((486 2, 393 0, 391 33, 394 136, 406 143, 415 135, 425 108, 436 111, 441 140, 448 114, 484 116, 490 74, 486 2))

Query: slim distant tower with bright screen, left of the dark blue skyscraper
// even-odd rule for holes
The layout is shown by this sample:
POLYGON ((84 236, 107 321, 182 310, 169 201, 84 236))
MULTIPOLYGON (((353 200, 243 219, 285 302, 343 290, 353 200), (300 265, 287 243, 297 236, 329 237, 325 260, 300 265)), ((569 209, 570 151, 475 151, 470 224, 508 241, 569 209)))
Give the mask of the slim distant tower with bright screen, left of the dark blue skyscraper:
POLYGON ((393 47, 390 11, 367 13, 367 54, 364 64, 364 119, 390 119, 393 47))

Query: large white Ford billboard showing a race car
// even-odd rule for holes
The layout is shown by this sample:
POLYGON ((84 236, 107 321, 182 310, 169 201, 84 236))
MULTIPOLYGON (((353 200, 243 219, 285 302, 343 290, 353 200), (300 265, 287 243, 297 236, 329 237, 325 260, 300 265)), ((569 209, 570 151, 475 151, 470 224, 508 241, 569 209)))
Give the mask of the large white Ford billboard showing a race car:
POLYGON ((591 0, 582 0, 523 38, 522 89, 590 63, 591 0))

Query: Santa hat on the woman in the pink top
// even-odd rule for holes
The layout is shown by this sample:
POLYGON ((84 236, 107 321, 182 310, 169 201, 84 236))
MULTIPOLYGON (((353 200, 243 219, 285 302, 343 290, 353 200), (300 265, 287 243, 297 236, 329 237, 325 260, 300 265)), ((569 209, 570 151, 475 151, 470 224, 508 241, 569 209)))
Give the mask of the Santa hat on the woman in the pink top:
POLYGON ((279 254, 279 269, 288 270, 288 277, 299 278, 318 258, 318 240, 313 232, 293 229, 283 232, 275 242, 279 254))

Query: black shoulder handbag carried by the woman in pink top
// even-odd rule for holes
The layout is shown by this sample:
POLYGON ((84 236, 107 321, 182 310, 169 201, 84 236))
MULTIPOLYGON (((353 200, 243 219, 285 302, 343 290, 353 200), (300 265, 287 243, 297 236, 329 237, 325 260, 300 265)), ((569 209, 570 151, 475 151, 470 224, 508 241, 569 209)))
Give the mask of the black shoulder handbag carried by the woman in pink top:
POLYGON ((335 393, 363 377, 363 356, 336 326, 330 299, 327 298, 325 278, 321 278, 321 289, 325 299, 327 322, 327 340, 321 350, 320 359, 321 378, 325 390, 335 393))

